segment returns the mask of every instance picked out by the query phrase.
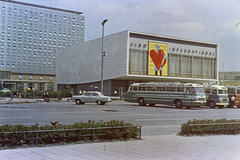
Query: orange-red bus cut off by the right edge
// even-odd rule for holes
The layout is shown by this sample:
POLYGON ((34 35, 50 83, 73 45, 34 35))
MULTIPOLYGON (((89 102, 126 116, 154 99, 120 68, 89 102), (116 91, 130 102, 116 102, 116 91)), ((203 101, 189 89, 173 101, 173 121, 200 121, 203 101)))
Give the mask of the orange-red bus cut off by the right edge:
POLYGON ((240 108, 240 86, 227 86, 228 88, 228 99, 229 99, 229 108, 237 106, 240 108))

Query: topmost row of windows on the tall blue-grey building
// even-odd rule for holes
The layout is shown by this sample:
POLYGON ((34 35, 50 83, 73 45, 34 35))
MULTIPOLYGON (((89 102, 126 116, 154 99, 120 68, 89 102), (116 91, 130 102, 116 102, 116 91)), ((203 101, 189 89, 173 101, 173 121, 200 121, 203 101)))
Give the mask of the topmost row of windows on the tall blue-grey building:
MULTIPOLYGON (((4 13, 6 11, 6 7, 2 7, 2 12, 4 13)), ((24 14, 24 15, 29 15, 29 16, 35 16, 35 17, 45 17, 45 18, 53 18, 53 19, 59 19, 59 20, 68 20, 68 21, 80 21, 80 18, 72 18, 72 17, 67 17, 67 16, 61 16, 61 15, 56 15, 56 14, 48 14, 48 13, 42 13, 42 12, 33 12, 33 11, 28 11, 28 10, 22 10, 22 9, 17 9, 17 8, 8 8, 8 13, 10 14, 11 12, 13 12, 14 15, 16 15, 16 13, 19 14, 24 14)), ((84 19, 81 19, 81 22, 84 22, 84 19)))

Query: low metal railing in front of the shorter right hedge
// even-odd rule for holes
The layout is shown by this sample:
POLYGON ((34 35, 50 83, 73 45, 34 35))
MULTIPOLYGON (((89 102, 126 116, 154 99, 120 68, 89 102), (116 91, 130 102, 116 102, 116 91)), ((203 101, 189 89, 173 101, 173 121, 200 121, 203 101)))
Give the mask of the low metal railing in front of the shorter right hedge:
MULTIPOLYGON (((209 123, 209 124, 188 124, 188 137, 190 135, 190 128, 192 126, 221 126, 220 128, 211 128, 211 129, 194 129, 194 131, 202 131, 202 130, 220 130, 221 134, 223 133, 224 129, 236 129, 236 128, 224 128, 224 125, 240 125, 240 123, 209 123)), ((237 127, 240 129, 240 127, 237 127)))

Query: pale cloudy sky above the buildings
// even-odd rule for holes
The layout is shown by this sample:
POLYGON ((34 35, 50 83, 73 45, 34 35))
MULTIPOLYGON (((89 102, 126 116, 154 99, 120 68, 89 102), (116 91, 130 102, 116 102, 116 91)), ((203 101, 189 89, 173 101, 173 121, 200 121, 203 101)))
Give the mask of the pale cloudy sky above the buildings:
POLYGON ((131 30, 219 44, 219 70, 240 71, 239 0, 17 0, 83 12, 85 41, 131 30))

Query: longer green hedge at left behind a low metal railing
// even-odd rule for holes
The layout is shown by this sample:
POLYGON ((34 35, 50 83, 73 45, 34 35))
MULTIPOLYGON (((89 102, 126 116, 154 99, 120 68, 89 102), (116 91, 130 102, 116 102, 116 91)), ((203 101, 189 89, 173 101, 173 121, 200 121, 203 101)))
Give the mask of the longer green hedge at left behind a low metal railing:
POLYGON ((126 123, 123 120, 111 120, 111 121, 91 121, 88 122, 76 122, 72 125, 57 124, 39 126, 37 123, 30 127, 19 124, 19 125, 2 125, 0 126, 0 147, 2 149, 22 146, 23 144, 28 146, 35 146, 36 137, 35 133, 26 133, 26 131, 41 131, 51 130, 50 132, 38 132, 38 146, 44 146, 46 144, 61 144, 61 143, 72 143, 78 141, 90 141, 92 136, 79 136, 79 135, 92 135, 92 130, 87 128, 99 128, 99 127, 119 127, 118 129, 96 129, 95 134, 101 134, 94 136, 95 140, 128 140, 130 138, 137 138, 141 132, 139 126, 134 126, 131 123, 126 123), (131 126, 124 128, 124 126, 131 126), (66 130, 66 129, 82 129, 74 131, 56 132, 52 130, 66 130), (6 133, 12 132, 12 133, 6 133), (17 133, 18 132, 18 133, 17 133), (20 133, 19 133, 20 132, 20 133))

